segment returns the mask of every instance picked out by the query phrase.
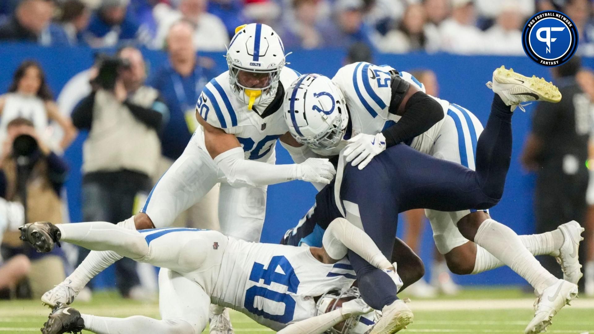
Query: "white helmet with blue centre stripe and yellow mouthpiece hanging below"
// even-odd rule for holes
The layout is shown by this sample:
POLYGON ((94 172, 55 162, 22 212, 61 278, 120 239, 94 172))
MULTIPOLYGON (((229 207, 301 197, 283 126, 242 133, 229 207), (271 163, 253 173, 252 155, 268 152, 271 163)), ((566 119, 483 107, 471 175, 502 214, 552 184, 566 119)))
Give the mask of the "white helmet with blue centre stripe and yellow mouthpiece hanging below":
POLYGON ((274 98, 279 87, 280 71, 285 66, 285 46, 279 35, 266 24, 245 24, 235 29, 235 36, 227 49, 227 64, 233 93, 251 109, 252 105, 274 98), (254 77, 260 75, 260 84, 250 87, 242 82, 239 78, 241 71, 254 77))

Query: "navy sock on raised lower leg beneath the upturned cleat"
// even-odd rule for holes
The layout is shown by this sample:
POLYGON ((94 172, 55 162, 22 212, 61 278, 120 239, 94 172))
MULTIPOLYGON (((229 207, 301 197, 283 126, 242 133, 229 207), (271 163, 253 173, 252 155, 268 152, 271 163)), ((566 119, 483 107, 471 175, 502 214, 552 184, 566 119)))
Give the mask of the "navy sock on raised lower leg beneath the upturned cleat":
POLYGON ((476 171, 482 190, 491 198, 503 196, 511 162, 511 112, 495 94, 485 130, 476 143, 476 171))

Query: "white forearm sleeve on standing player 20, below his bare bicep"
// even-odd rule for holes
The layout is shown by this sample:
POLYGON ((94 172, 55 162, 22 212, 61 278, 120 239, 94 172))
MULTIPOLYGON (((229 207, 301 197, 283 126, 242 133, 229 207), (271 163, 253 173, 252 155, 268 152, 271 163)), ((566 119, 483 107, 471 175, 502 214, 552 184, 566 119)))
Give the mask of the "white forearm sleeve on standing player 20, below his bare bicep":
POLYGON ((245 160, 244 150, 235 147, 214 158, 232 187, 259 187, 298 179, 299 165, 273 165, 245 160))

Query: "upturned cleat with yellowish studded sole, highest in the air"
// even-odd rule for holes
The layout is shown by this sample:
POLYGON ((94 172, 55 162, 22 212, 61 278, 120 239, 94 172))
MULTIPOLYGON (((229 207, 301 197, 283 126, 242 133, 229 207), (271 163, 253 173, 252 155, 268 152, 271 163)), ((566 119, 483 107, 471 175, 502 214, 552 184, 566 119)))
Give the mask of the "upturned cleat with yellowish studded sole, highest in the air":
POLYGON ((544 78, 531 78, 507 70, 504 66, 493 72, 493 81, 486 83, 486 86, 497 93, 505 105, 511 106, 514 111, 517 106, 524 111, 520 103, 530 101, 546 101, 557 103, 561 100, 561 93, 554 84, 546 82, 544 78))

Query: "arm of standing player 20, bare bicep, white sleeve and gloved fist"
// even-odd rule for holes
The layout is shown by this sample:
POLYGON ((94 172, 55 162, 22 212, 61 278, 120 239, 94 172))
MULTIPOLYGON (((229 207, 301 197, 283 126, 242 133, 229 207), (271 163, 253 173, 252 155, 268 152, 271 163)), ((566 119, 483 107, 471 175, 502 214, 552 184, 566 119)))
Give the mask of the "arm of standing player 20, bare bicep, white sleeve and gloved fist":
POLYGON ((204 127, 204 142, 208 153, 232 187, 258 187, 295 179, 328 184, 336 174, 328 159, 310 158, 305 162, 289 165, 245 160, 244 150, 233 134, 208 124, 198 112, 196 118, 204 127))

